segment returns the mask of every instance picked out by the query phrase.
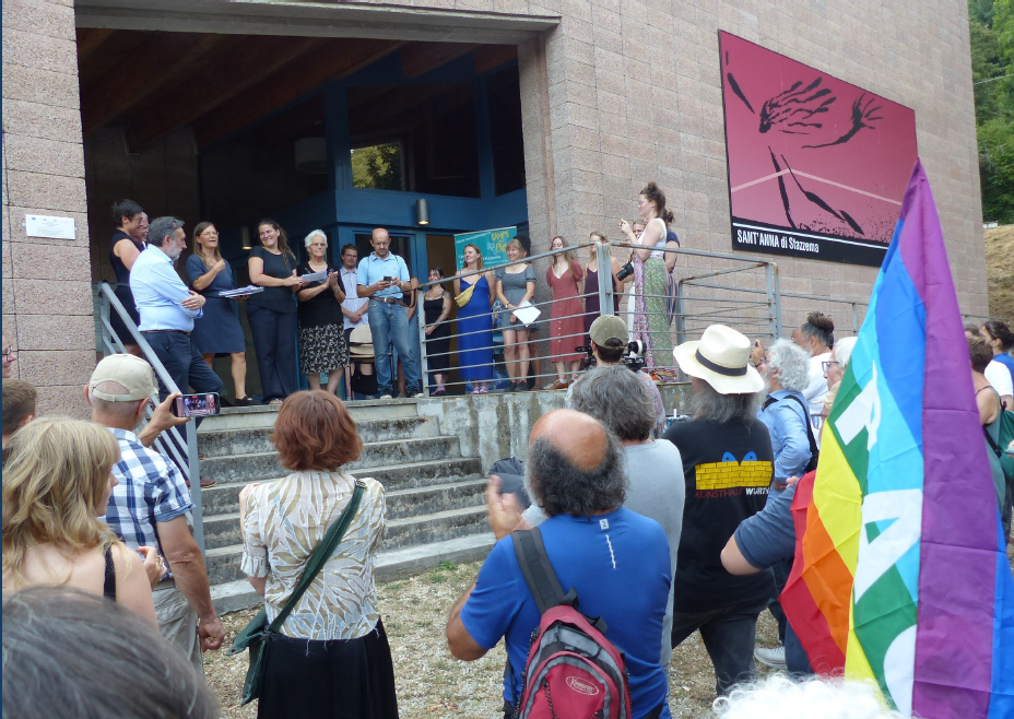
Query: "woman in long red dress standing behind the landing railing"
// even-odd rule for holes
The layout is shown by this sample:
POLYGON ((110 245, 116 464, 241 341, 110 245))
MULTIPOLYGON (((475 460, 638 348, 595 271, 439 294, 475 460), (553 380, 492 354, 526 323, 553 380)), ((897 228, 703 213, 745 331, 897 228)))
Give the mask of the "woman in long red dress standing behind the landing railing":
POLYGON ((559 250, 553 258, 553 264, 545 271, 545 281, 553 291, 553 311, 550 317, 550 356, 556 365, 556 381, 546 389, 566 389, 581 365, 581 353, 575 347, 585 340, 585 309, 581 307, 581 280, 585 273, 574 259, 574 252, 565 249, 567 240, 556 236, 550 245, 551 250, 559 250))

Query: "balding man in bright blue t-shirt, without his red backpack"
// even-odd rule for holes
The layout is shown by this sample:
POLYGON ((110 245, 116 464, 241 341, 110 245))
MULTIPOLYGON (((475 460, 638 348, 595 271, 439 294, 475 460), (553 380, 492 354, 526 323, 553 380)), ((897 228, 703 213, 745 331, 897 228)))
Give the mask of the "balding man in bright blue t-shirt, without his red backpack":
MULTIPOLYGON (((582 614, 605 621, 605 637, 626 657, 634 717, 671 717, 660 663, 669 542, 658 522, 622 506, 627 480, 620 441, 598 420, 556 410, 532 427, 526 471, 529 494, 549 517, 540 530, 561 585, 577 591, 582 614)), ((505 719, 520 697, 539 621, 512 542, 504 538, 451 610, 447 644, 455 657, 473 661, 506 638, 505 719)))

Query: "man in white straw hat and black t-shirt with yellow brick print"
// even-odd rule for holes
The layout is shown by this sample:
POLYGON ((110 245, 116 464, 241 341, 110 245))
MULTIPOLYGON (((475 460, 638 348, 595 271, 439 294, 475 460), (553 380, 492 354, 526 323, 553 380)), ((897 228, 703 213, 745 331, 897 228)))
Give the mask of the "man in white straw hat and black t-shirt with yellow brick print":
POLYGON ((735 577, 721 562, 735 528, 764 508, 774 472, 770 436, 756 419, 764 380, 747 362, 750 347, 740 332, 712 325, 699 342, 673 351, 694 385, 694 419, 665 433, 686 483, 672 645, 700 630, 719 694, 754 677, 757 616, 775 596, 769 569, 735 577))

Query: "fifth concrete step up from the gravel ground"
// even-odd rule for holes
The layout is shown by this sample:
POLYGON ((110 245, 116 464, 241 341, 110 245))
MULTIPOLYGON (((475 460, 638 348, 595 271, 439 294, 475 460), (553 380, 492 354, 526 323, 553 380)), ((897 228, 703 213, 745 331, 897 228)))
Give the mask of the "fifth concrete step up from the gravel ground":
MULTIPOLYGON (((391 439, 365 445, 355 462, 345 465, 349 471, 370 471, 375 467, 423 462, 460 456, 457 437, 423 437, 420 439, 391 439)), ((256 482, 273 480, 287 474, 279 464, 275 451, 209 457, 201 461, 201 476, 219 482, 256 482)))

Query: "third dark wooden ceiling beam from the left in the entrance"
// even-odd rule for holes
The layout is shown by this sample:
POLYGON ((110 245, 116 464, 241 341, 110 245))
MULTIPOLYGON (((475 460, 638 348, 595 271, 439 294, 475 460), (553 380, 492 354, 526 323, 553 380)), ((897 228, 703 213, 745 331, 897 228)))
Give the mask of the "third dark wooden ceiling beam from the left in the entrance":
POLYGON ((237 95, 227 107, 220 108, 194 122, 198 148, 207 148, 238 132, 326 82, 340 80, 393 52, 403 43, 397 40, 330 40, 290 67, 263 78, 237 95))

